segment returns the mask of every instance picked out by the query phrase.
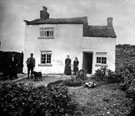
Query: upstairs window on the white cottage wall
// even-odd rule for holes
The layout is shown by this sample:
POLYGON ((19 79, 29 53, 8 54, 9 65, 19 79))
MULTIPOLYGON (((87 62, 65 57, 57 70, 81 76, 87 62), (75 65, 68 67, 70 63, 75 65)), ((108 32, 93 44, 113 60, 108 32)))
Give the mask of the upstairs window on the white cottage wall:
POLYGON ((40 38, 53 39, 54 38, 54 28, 53 27, 40 28, 40 38))

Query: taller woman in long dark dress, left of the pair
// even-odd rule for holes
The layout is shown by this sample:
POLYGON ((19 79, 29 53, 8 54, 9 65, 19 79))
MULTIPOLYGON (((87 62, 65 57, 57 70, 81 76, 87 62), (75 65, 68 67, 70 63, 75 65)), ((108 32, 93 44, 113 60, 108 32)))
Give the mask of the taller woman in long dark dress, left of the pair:
POLYGON ((67 58, 65 59, 65 75, 71 75, 71 59, 69 58, 69 55, 67 55, 67 58))

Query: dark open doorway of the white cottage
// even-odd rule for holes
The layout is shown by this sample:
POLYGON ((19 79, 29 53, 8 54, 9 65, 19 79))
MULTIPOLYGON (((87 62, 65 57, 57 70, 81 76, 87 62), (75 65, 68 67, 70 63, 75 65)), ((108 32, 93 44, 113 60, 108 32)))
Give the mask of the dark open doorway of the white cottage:
POLYGON ((83 69, 85 69, 86 73, 88 74, 92 74, 92 61, 93 61, 93 53, 83 52, 83 69))

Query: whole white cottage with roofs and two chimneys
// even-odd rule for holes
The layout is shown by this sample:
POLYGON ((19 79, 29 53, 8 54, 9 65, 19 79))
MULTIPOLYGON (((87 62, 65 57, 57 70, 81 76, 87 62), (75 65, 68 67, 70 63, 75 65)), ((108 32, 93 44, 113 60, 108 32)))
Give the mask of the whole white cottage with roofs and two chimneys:
POLYGON ((36 69, 42 73, 63 73, 65 58, 79 59, 79 69, 93 74, 106 66, 115 70, 116 34, 113 18, 107 25, 88 25, 87 17, 50 18, 47 8, 40 11, 40 18, 25 21, 24 72, 30 53, 36 58, 36 69))

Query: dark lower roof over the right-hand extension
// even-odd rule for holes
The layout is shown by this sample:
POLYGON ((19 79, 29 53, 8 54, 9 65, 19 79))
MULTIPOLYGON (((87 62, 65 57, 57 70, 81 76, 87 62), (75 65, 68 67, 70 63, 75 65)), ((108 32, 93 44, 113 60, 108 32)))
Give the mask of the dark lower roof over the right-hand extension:
POLYGON ((84 29, 84 37, 112 37, 116 38, 113 26, 90 26, 84 29))

